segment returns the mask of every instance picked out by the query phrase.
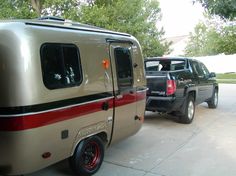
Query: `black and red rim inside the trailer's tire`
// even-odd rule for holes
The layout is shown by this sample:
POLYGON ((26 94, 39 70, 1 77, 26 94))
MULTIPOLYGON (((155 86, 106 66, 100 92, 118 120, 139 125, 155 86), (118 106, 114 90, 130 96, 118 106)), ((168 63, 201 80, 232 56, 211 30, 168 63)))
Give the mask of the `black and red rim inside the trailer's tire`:
POLYGON ((101 159, 101 152, 99 145, 96 142, 89 142, 84 149, 83 153, 84 167, 92 170, 96 168, 101 159))

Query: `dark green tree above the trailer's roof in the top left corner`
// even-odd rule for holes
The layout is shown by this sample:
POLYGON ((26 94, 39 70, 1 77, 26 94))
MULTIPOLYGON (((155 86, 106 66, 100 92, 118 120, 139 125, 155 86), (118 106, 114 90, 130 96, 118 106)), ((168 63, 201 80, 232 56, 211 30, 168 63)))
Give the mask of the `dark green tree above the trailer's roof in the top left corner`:
POLYGON ((29 19, 40 16, 74 17, 78 13, 78 0, 5 0, 0 4, 0 19, 29 19))

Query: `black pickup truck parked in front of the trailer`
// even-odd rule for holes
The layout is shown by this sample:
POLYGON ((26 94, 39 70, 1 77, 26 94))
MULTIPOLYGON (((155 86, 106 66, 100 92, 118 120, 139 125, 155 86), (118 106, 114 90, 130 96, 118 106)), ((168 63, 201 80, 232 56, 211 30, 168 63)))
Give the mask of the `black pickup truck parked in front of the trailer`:
POLYGON ((191 123, 195 105, 207 102, 209 108, 218 104, 219 86, 215 73, 190 58, 148 58, 147 111, 176 114, 182 123, 191 123))

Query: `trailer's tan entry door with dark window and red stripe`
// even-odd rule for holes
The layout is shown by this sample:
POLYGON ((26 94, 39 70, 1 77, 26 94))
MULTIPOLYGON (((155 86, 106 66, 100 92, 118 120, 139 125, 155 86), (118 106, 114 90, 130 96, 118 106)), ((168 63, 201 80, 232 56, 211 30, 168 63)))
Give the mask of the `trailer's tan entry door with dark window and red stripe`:
POLYGON ((114 87, 114 119, 112 142, 132 135, 137 130, 136 88, 134 87, 134 72, 132 47, 129 43, 110 43, 110 58, 112 63, 114 87))

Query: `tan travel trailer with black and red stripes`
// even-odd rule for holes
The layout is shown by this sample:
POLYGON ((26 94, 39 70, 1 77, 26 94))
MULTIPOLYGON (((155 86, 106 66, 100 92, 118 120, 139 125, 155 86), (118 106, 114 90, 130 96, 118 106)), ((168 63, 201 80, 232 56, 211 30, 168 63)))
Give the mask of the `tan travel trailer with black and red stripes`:
POLYGON ((129 34, 55 20, 0 22, 0 174, 69 158, 94 174, 104 149, 135 134, 146 82, 129 34))

